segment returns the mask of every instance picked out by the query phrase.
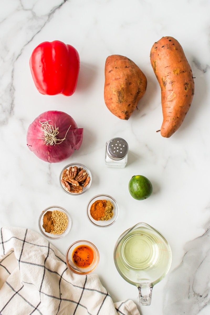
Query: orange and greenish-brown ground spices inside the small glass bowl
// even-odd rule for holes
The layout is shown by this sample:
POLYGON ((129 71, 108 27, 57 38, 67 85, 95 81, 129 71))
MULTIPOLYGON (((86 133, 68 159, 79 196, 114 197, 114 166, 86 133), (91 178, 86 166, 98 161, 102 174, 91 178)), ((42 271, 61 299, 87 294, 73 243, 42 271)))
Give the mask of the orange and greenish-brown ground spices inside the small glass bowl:
POLYGON ((110 200, 96 200, 90 207, 90 215, 96 221, 108 221, 113 217, 113 208, 110 200))

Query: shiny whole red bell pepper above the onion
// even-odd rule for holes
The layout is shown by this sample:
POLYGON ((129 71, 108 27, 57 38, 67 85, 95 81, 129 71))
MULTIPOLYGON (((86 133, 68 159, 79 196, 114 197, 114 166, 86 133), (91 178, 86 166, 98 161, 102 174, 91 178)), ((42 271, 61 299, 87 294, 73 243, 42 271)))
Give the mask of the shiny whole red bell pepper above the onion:
POLYGON ((75 92, 80 60, 73 46, 57 40, 43 42, 33 50, 29 64, 41 94, 70 96, 75 92))

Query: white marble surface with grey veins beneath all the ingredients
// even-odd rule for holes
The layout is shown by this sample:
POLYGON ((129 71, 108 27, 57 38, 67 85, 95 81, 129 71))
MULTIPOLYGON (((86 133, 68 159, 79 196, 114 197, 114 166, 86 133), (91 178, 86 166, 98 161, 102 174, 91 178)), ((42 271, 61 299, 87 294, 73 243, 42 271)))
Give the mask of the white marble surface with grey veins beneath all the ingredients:
POLYGON ((171 245, 170 272, 153 289, 141 315, 207 315, 210 313, 210 3, 207 0, 10 0, 0 12, 0 226, 38 231, 43 209, 60 205, 72 218, 68 236, 52 242, 63 254, 70 243, 88 239, 99 249, 96 272, 113 301, 132 299, 138 290, 115 269, 113 249, 127 228, 143 221, 171 245), (150 65, 150 49, 162 36, 182 45, 195 78, 191 108, 169 139, 156 130, 162 124, 160 88, 150 65), (33 83, 29 58, 43 41, 60 40, 79 52, 81 68, 74 95, 44 96, 33 83), (105 106, 104 65, 111 54, 125 55, 145 73, 148 87, 138 111, 122 121, 105 106), (80 150, 69 159, 48 164, 26 146, 29 124, 42 112, 61 110, 84 128, 80 150), (105 142, 127 140, 125 169, 108 169, 105 142), (90 189, 68 196, 59 186, 60 170, 80 162, 92 172, 90 189), (153 194, 144 201, 128 192, 133 175, 145 175, 153 194), (116 223, 94 227, 86 204, 94 195, 113 196, 120 208, 116 223))

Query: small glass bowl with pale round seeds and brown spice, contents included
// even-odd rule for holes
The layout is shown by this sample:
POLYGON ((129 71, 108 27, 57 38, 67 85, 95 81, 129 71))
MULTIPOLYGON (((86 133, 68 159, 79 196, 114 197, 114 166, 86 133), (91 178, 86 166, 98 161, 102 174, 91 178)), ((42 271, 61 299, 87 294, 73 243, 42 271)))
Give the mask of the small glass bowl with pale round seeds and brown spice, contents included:
POLYGON ((56 240, 64 237, 71 229, 71 217, 60 206, 44 209, 39 217, 39 230, 47 238, 56 240))

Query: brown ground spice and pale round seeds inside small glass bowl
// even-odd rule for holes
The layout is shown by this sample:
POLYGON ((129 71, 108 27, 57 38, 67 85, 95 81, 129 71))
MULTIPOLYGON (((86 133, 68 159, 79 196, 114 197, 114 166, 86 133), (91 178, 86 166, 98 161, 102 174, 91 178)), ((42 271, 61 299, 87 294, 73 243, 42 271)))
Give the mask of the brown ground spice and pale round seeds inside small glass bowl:
POLYGON ((47 211, 43 216, 43 229, 47 233, 60 235, 65 232, 67 226, 68 219, 62 211, 47 211))

